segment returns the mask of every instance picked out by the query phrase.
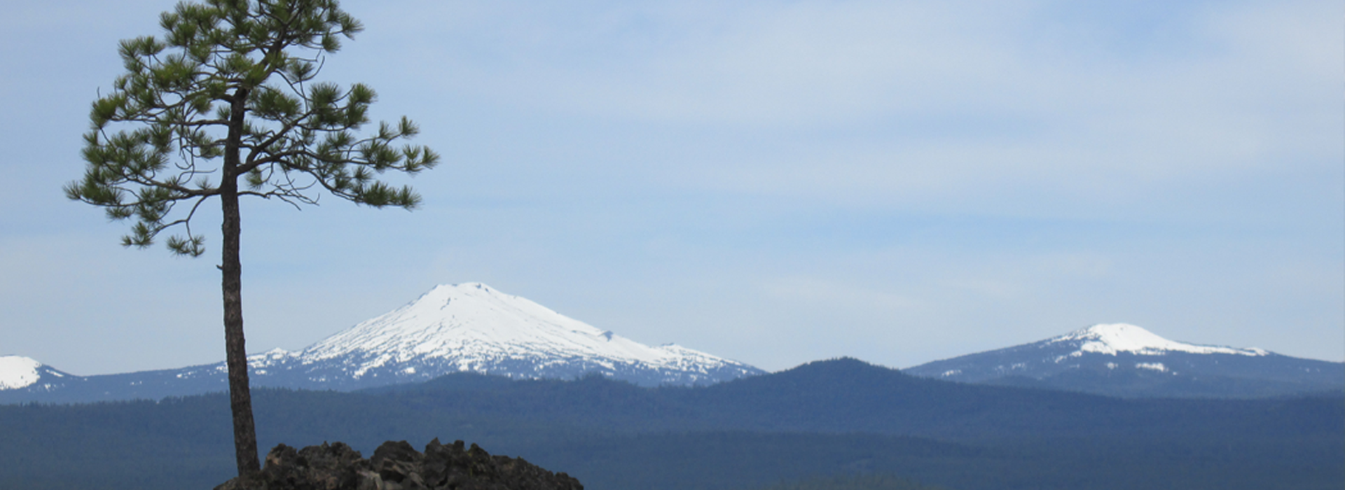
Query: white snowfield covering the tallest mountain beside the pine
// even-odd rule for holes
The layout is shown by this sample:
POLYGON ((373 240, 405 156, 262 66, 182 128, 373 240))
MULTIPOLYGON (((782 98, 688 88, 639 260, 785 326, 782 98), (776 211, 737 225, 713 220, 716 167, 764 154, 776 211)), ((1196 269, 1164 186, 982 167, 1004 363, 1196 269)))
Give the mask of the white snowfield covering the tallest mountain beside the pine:
POLYGON ((648 346, 475 282, 437 286, 300 352, 276 349, 250 356, 249 364, 266 368, 274 362, 339 358, 358 360, 359 365, 351 366, 355 377, 369 369, 430 358, 476 372, 500 360, 539 358, 542 365, 580 358, 607 368, 640 364, 693 372, 741 365, 674 344, 648 346))

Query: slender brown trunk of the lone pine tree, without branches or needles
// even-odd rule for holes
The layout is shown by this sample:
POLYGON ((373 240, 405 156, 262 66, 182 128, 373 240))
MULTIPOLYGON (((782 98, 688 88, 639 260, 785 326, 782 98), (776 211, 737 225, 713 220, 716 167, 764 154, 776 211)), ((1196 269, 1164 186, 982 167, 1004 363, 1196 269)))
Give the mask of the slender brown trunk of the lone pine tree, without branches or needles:
POLYGON ((257 428, 252 413, 252 389, 247 385, 247 348, 243 340, 243 266, 238 258, 242 226, 238 212, 239 140, 247 99, 246 90, 234 94, 229 138, 225 144, 225 168, 219 183, 223 208, 223 259, 219 264, 225 297, 225 362, 229 365, 229 407, 234 415, 234 456, 238 475, 261 471, 257 459, 257 428))

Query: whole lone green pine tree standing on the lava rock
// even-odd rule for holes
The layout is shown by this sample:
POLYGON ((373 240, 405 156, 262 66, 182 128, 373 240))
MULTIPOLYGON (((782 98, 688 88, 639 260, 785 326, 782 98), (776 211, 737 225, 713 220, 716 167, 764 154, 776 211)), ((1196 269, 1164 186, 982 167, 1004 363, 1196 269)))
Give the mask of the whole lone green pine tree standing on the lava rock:
POLYGON ((257 435, 243 342, 241 196, 316 204, 325 191, 371 207, 414 208, 410 188, 377 179, 416 173, 438 156, 399 140, 418 130, 405 117, 369 122, 374 91, 313 82, 339 38, 362 30, 336 0, 183 1, 164 12, 164 34, 122 40, 126 72, 93 103, 82 180, 70 199, 132 220, 128 247, 149 247, 169 228, 168 250, 199 256, 192 217, 219 197, 225 346, 238 474, 258 471, 257 435), (394 146, 399 145, 399 146, 394 146), (242 181, 242 183, 239 183, 242 181))

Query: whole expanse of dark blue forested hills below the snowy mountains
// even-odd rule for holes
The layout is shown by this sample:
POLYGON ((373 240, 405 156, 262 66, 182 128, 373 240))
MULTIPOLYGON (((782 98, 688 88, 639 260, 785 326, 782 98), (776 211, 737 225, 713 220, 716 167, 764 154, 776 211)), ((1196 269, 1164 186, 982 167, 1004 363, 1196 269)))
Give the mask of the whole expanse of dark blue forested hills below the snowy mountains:
MULTIPOLYGON (((838 475, 967 490, 1345 483, 1345 396, 1118 400, 838 360, 705 388, 452 375, 355 393, 258 389, 254 403, 265 448, 342 440, 367 455, 383 440, 463 439, 597 490, 838 475)), ((0 456, 13 462, 0 486, 208 489, 231 473, 227 422, 222 393, 0 407, 0 456)))

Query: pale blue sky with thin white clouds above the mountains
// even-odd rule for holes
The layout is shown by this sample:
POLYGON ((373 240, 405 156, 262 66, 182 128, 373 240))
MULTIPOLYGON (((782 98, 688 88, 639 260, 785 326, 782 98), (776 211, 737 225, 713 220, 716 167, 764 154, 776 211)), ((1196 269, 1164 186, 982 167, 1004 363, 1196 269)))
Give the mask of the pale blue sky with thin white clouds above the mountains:
MULTIPOLYGON (((252 352, 486 282, 772 371, 1099 322, 1345 360, 1338 1, 343 7, 366 31, 320 78, 374 86, 444 164, 417 212, 246 205, 252 352)), ((0 354, 223 358, 218 236, 124 250, 61 193, 116 42, 169 8, 0 19, 0 354)))

